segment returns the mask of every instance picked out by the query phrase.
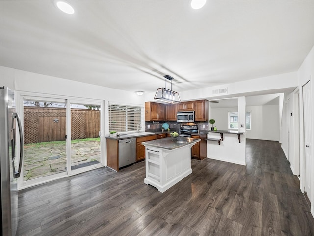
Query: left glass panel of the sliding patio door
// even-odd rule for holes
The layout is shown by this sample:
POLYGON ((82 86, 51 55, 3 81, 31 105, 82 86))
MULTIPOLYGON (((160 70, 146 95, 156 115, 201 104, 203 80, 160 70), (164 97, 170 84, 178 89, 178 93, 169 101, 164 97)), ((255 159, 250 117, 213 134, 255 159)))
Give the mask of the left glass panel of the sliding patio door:
POLYGON ((66 101, 25 98, 23 121, 23 180, 65 174, 66 101))

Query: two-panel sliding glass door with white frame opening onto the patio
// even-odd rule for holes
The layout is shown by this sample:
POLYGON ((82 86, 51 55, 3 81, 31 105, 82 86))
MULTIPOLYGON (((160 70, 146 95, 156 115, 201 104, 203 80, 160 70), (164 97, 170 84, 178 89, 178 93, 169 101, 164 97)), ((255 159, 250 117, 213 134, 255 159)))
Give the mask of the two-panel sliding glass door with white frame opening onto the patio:
POLYGON ((21 98, 24 177, 19 188, 104 165, 102 101, 21 98))

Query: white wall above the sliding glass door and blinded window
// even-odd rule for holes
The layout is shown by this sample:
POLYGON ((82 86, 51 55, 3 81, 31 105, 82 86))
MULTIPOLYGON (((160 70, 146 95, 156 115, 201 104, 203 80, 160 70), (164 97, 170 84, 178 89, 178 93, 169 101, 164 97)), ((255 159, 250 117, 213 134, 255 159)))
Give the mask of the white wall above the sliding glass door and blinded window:
MULTIPOLYGON (((144 106, 144 98, 134 92, 111 89, 102 86, 81 83, 48 75, 42 75, 8 67, 0 67, 1 86, 27 93, 40 93, 44 96, 61 96, 64 98, 87 98, 105 101, 105 120, 108 119, 108 102, 144 106)), ((109 124, 105 122, 105 134, 109 124)))

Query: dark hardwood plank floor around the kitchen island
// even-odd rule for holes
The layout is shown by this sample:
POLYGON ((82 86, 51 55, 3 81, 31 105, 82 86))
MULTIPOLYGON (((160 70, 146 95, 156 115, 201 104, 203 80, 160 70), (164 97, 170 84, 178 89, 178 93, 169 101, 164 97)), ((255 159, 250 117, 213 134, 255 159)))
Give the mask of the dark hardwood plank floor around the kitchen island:
POLYGON ((18 235, 314 236, 280 144, 246 144, 247 166, 193 159, 193 173, 164 193, 144 184, 145 162, 22 190, 18 235))

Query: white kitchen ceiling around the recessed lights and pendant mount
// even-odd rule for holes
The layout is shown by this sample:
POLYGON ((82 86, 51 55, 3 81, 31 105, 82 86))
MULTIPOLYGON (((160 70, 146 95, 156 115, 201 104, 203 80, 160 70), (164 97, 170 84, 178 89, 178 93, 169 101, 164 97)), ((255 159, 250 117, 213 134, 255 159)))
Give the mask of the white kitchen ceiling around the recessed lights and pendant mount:
POLYGON ((314 0, 0 1, 0 64, 110 88, 178 92, 296 71, 314 0), (169 85, 168 85, 169 86, 169 85))

